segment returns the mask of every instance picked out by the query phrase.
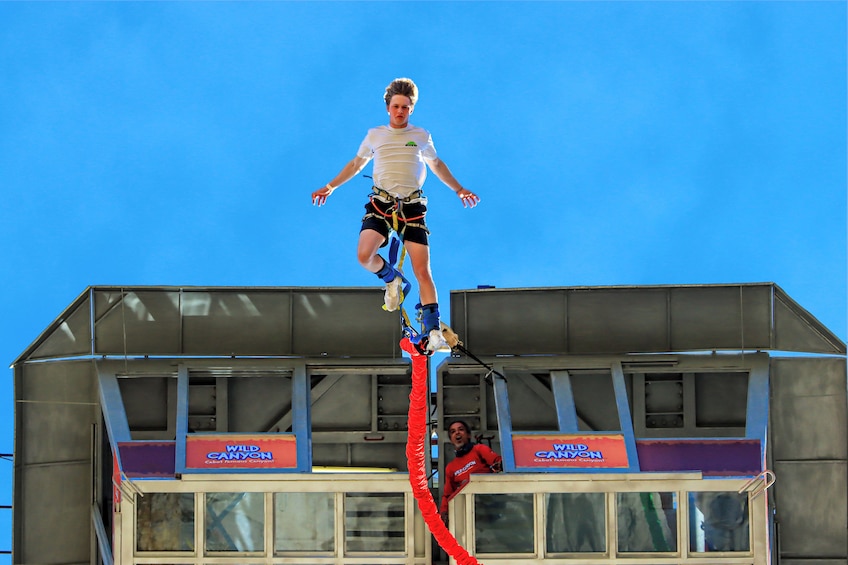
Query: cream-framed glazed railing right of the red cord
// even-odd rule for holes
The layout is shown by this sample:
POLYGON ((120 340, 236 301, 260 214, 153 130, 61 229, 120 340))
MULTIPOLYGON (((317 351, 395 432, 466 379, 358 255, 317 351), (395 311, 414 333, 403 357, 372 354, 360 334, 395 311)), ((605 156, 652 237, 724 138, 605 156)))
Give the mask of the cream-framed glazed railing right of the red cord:
POLYGON ((449 521, 487 564, 767 565, 766 497, 740 492, 746 482, 699 473, 472 475, 449 521))

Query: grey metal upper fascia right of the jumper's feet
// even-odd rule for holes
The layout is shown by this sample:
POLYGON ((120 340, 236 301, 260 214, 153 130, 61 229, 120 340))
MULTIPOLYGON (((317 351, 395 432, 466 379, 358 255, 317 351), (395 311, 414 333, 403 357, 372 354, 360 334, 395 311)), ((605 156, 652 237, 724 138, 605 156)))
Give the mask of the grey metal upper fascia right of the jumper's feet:
POLYGON ((451 324, 478 355, 845 353, 770 283, 453 291, 451 324))

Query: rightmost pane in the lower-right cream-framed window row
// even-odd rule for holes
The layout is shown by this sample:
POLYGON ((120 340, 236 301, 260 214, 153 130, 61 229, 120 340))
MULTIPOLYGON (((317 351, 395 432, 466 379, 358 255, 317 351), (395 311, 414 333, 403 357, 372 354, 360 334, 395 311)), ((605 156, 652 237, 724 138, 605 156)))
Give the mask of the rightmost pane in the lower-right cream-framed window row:
POLYGON ((751 549, 747 493, 689 493, 689 523, 692 552, 751 549))

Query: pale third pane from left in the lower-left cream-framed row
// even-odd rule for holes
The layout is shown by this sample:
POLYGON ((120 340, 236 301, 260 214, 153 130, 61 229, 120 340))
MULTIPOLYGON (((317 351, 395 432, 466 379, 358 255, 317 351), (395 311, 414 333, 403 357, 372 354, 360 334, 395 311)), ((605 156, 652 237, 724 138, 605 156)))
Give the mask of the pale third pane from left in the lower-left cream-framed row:
POLYGON ((274 551, 332 552, 334 502, 331 492, 274 494, 274 551))

